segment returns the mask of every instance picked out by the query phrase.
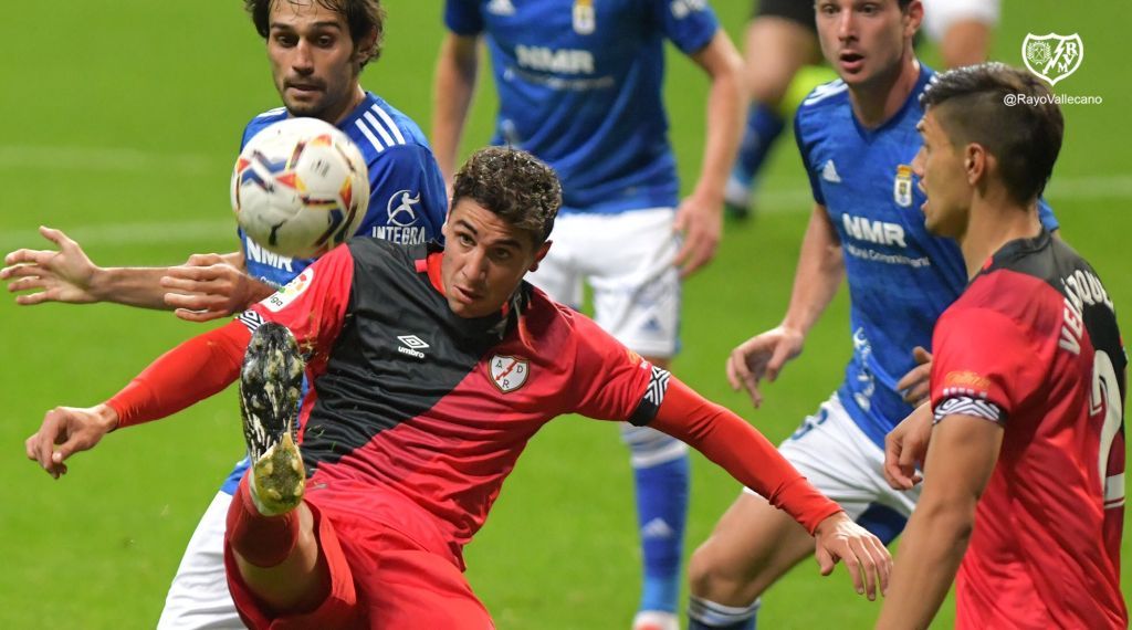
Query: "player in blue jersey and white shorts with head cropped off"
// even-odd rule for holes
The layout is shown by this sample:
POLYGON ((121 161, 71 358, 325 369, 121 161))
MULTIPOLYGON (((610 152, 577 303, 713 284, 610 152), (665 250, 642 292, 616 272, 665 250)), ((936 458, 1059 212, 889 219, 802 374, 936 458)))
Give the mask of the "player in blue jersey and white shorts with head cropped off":
MULTIPOLYGON (((533 153, 561 179, 555 247, 529 279, 581 307, 652 363, 677 351, 680 276, 714 254, 741 127, 741 59, 705 0, 447 0, 432 140, 446 176, 471 103, 479 40, 491 55, 494 144, 533 153), (664 41, 712 81, 703 167, 679 200, 661 98, 664 41), (683 233, 683 245, 679 242, 683 233)), ((687 510, 686 447, 626 429, 644 560, 637 628, 675 628, 687 510)))

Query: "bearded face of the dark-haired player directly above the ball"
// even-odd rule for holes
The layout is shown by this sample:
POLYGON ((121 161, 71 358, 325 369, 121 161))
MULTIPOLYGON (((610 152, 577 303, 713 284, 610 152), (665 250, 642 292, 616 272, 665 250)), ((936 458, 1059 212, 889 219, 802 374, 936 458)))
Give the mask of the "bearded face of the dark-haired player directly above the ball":
POLYGON ((312 0, 276 0, 268 15, 272 77, 291 115, 336 123, 359 95, 359 54, 345 18, 312 0))

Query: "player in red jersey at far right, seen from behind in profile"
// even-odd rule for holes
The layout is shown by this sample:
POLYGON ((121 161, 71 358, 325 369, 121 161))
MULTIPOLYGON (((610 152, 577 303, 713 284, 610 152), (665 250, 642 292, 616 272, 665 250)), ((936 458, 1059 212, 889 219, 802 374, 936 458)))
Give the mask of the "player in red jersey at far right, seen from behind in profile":
POLYGON ((926 628, 957 569, 959 628, 1127 627, 1127 359, 1097 274, 1038 222, 1062 144, 1052 98, 1001 63, 924 95, 925 219, 971 282, 935 327, 931 408, 886 443, 890 483, 910 487, 920 460, 925 482, 880 628, 926 628))

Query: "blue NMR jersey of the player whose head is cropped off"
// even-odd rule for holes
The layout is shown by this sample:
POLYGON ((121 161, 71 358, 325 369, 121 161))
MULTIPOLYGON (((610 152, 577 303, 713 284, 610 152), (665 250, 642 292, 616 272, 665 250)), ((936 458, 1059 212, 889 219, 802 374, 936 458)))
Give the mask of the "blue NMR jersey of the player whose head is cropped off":
POLYGON ((492 143, 550 164, 564 213, 676 207, 663 43, 703 50, 719 28, 706 0, 446 0, 445 24, 487 35, 492 143))

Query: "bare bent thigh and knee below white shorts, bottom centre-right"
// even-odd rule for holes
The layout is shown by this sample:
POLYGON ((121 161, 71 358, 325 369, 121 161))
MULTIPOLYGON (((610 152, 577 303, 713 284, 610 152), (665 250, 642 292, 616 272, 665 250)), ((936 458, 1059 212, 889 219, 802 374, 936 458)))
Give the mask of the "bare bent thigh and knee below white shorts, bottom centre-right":
POLYGON ((693 554, 692 592, 723 605, 747 605, 813 551, 814 540, 801 525, 744 491, 693 554))

